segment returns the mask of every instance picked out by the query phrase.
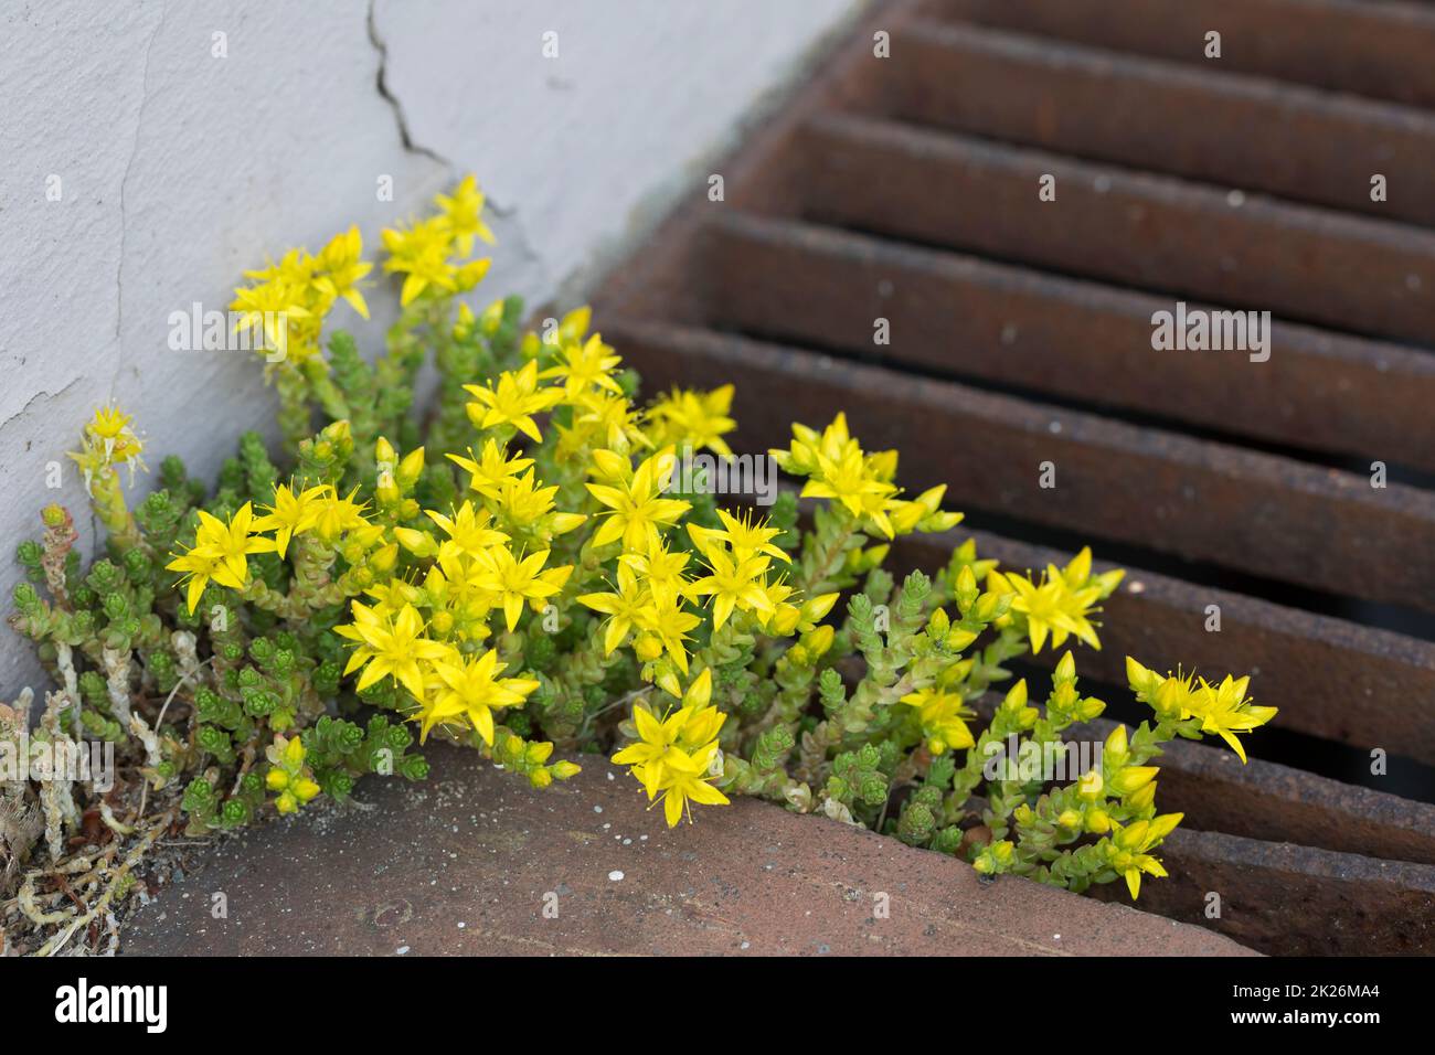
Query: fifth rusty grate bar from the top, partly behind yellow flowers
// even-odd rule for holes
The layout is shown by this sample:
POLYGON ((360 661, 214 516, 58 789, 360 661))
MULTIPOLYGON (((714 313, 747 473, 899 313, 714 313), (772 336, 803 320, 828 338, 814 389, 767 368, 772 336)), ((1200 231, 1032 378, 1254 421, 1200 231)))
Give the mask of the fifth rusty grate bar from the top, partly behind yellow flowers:
POLYGON ((903 452, 910 487, 949 484, 959 508, 1159 537, 1190 558, 1435 609, 1435 494, 710 330, 604 327, 657 388, 740 376, 758 421, 749 448, 845 406, 854 428, 903 452), (1059 466, 1058 487, 1040 487, 1043 462, 1059 466))

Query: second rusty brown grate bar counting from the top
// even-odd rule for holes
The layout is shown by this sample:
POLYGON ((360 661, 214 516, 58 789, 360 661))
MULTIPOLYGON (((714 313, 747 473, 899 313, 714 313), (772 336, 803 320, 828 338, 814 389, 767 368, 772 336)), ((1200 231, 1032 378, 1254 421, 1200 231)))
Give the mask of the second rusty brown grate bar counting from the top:
POLYGON ((1424 111, 930 20, 895 27, 893 52, 895 118, 1435 224, 1424 111), (1401 192, 1372 201, 1376 172, 1401 192))

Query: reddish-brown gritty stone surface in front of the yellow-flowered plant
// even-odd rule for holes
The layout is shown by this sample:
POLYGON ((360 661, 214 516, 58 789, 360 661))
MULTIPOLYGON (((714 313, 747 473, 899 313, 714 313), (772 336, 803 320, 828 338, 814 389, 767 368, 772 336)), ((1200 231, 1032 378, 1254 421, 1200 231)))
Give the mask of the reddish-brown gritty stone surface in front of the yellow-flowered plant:
POLYGON ((542 792, 435 749, 367 810, 222 841, 126 955, 1250 955, 1225 937, 739 800, 669 831, 603 758, 542 792), (222 899, 218 896, 222 894, 222 899), (215 906, 227 917, 215 919, 215 906))

